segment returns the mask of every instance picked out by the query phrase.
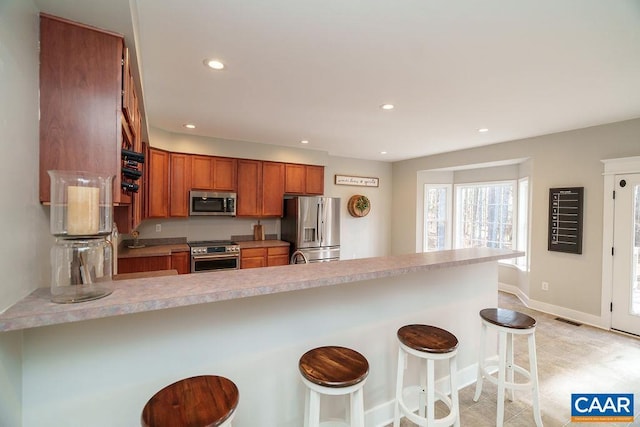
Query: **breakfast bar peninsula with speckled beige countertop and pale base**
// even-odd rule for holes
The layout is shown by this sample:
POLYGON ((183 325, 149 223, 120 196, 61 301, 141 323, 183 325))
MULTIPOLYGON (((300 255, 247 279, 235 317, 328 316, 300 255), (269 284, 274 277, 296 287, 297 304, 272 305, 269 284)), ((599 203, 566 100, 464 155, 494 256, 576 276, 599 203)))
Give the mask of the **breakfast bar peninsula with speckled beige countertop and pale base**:
POLYGON ((451 331, 459 383, 473 382, 478 312, 497 304, 498 261, 521 255, 459 249, 122 280, 78 304, 51 303, 38 289, 0 314, 0 371, 11 372, 0 375, 0 425, 135 426, 157 390, 209 374, 238 386, 234 426, 299 427, 298 360, 322 345, 368 359, 366 425, 385 425, 398 328, 451 331))

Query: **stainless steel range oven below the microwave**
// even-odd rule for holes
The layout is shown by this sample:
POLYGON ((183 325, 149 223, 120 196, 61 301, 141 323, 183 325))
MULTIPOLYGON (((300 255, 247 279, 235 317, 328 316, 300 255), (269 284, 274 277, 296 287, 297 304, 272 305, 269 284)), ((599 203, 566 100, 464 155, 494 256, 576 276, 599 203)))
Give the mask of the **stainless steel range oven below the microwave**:
POLYGON ((229 240, 200 240, 188 242, 191 247, 191 272, 240 268, 240 246, 229 240))

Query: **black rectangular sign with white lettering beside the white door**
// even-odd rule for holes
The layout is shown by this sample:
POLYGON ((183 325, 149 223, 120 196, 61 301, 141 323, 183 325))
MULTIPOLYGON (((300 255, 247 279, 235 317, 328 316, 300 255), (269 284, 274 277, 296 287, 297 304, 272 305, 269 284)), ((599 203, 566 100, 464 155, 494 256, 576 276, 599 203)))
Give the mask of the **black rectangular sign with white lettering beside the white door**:
POLYGON ((548 250, 582 253, 584 187, 549 189, 548 250))

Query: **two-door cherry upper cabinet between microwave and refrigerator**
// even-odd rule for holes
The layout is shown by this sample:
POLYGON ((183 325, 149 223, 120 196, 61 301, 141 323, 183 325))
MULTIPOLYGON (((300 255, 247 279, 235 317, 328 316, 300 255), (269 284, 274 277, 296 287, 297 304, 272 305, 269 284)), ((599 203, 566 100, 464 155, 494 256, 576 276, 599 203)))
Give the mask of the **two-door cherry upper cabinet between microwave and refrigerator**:
POLYGON ((282 216, 283 198, 284 163, 238 160, 237 216, 282 216))

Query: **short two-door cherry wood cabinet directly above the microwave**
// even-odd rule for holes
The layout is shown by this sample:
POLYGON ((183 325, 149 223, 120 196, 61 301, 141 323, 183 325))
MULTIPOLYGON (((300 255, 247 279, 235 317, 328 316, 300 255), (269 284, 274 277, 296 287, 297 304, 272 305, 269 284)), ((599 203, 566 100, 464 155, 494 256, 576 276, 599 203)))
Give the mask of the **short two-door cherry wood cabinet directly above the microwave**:
POLYGON ((237 160, 191 155, 191 186, 196 190, 236 191, 237 160))

